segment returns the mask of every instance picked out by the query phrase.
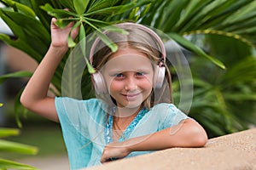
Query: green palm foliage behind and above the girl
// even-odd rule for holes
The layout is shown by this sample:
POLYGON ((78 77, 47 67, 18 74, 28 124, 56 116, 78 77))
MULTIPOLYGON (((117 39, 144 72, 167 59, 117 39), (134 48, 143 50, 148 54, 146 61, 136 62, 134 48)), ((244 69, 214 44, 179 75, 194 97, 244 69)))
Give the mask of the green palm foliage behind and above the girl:
MULTIPOLYGON (((254 48, 256 44, 255 0, 0 0, 0 2, 7 7, 0 9, 0 16, 9 25, 16 38, 13 40, 7 35, 0 34, 0 39, 29 54, 38 63, 43 59, 49 47, 49 23, 52 16, 58 19, 59 26, 66 26, 70 21, 75 21, 74 27, 80 26, 79 38, 75 42, 69 38, 71 48, 77 42, 83 42, 84 37, 93 31, 106 43, 111 44, 109 43, 110 40, 104 37, 100 28, 110 26, 107 28, 112 31, 119 31, 112 26, 113 23, 133 20, 147 26, 153 26, 165 32, 194 55, 207 59, 202 61, 201 65, 198 64, 198 67, 194 66, 194 64, 197 65, 196 62, 191 65, 195 80, 195 102, 193 101, 191 116, 203 122, 204 127, 212 136, 236 132, 247 128, 248 124, 252 122, 245 119, 240 120, 241 113, 239 115, 233 106, 239 106, 237 105, 239 102, 255 102, 255 88, 246 87, 245 77, 236 77, 237 72, 241 69, 250 71, 250 77, 247 78, 255 87, 255 82, 251 79, 253 72, 249 70, 249 68, 253 68, 254 58, 247 56, 249 54, 236 55, 241 59, 240 62, 229 65, 230 63, 227 63, 226 59, 233 60, 233 56, 224 54, 219 57, 218 53, 212 53, 211 50, 206 51, 204 48, 206 46, 197 45, 197 43, 192 42, 192 39, 196 39, 195 35, 199 34, 212 35, 212 37, 218 35, 243 42, 247 48, 254 48), (63 8, 68 8, 68 10, 63 10, 63 8), (248 63, 252 65, 247 65, 248 63), (224 71, 225 65, 227 66, 226 71, 224 71), (204 79, 207 77, 205 75, 207 72, 204 71, 206 67, 213 69, 212 71, 218 70, 220 72, 214 72, 216 74, 211 76, 212 79, 217 78, 218 83, 212 84, 209 79, 204 79), (218 77, 218 74, 221 74, 221 77, 218 77), (224 86, 220 87, 220 84, 224 86), (236 94, 237 89, 239 89, 238 94, 236 94), (250 97, 246 95, 249 92, 252 92, 250 97)), ((209 39, 204 40, 207 42, 209 39)), ((233 43, 221 45, 230 47, 231 44, 233 43)), ((210 49, 214 48, 213 45, 207 43, 207 47, 210 49)), ((114 45, 110 45, 110 48, 116 50, 114 45)), ((90 90, 90 78, 86 77, 89 77, 89 72, 93 72, 93 70, 88 65, 88 71, 86 69, 82 73, 77 71, 79 60, 76 58, 73 58, 73 61, 66 65, 73 72, 73 75, 66 77, 67 80, 64 82, 68 82, 67 86, 61 89, 61 76, 67 56, 59 65, 52 79, 55 94, 60 95, 62 92, 65 94, 67 92, 72 97, 78 96, 79 92, 74 91, 74 89, 82 87, 83 99, 91 98, 93 93, 90 90), (85 78, 78 84, 76 83, 77 77, 81 74, 85 78)), ((202 58, 195 57, 195 59, 202 58)), ((9 77, 30 77, 31 75, 32 73, 24 71, 11 73, 1 77, 0 82, 9 77)))

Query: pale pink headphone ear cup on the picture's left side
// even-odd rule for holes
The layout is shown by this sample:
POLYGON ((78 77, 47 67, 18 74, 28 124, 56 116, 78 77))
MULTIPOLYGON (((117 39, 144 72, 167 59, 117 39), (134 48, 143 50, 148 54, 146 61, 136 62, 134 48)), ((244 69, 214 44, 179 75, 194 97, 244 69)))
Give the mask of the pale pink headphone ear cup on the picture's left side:
POLYGON ((94 88, 96 94, 108 94, 108 88, 102 74, 100 72, 96 72, 92 74, 92 79, 94 81, 94 88))

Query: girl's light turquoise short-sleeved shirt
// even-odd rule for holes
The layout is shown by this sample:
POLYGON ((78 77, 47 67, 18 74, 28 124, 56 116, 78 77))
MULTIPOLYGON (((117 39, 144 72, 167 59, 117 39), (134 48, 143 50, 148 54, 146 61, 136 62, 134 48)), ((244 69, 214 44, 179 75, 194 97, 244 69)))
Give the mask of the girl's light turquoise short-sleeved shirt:
MULTIPOLYGON (((55 107, 71 169, 92 167, 101 164, 102 151, 106 145, 104 128, 108 120, 108 106, 100 99, 77 100, 55 98, 55 107)), ((172 104, 154 105, 137 123, 129 138, 158 132, 177 125, 188 118, 172 104)), ((138 156, 151 151, 135 151, 130 156, 138 156)))

